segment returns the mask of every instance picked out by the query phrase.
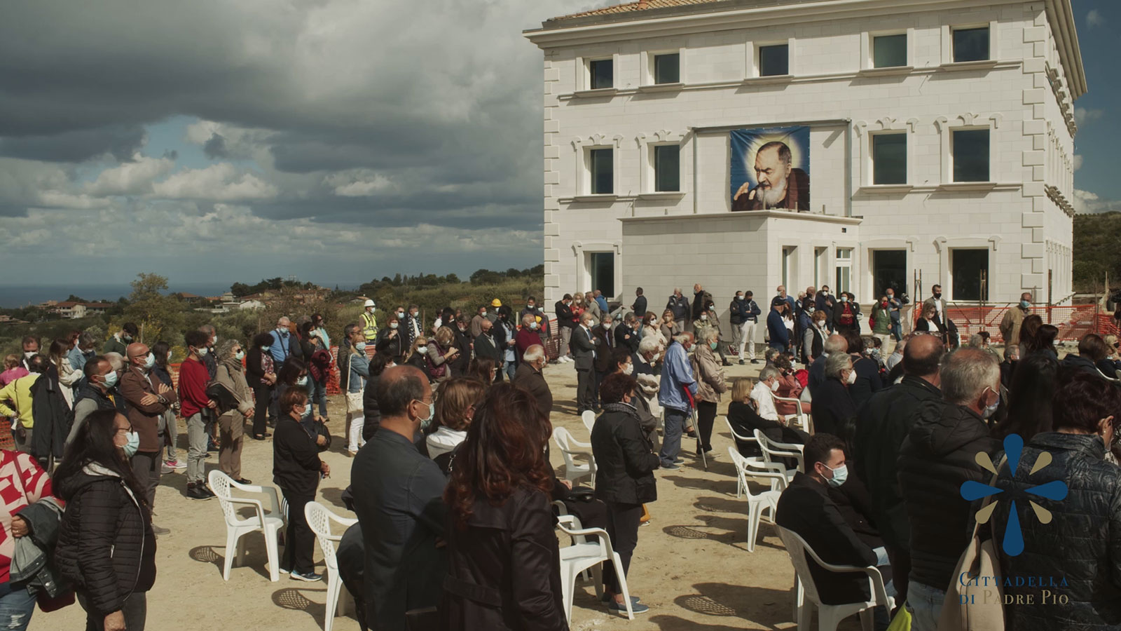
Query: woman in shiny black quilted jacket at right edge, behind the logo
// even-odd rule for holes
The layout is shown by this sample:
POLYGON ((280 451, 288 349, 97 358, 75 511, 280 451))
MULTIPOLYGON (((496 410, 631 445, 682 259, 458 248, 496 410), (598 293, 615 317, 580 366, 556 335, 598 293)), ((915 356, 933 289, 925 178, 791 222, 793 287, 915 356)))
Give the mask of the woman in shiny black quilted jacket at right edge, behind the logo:
MULTIPOLYGON (((1027 500, 1016 502, 1028 554, 1009 556, 1001 549, 1000 568, 1008 576, 1066 576, 1068 586, 1062 591, 1069 602, 1050 607, 1004 607, 1008 629, 1062 629, 1072 620, 1085 629, 1109 629, 1121 619, 1121 587, 1112 578, 1114 550, 1121 545, 1115 525, 1121 476, 1117 465, 1104 459, 1119 413, 1121 390, 1115 384, 1082 371, 1063 373, 1054 399, 1055 430, 1034 436, 1015 463, 1000 468, 994 486, 1006 493, 999 496, 1058 481, 1067 490, 1064 497, 1030 495, 1031 503, 1051 515, 1046 524, 1036 518, 1039 511, 1027 500), (1039 467, 1045 452, 1050 461, 1039 467), (1074 576, 1078 578, 1072 579, 1074 576)), ((999 463, 1000 455, 992 460, 999 463)), ((989 484, 989 478, 985 472, 981 482, 989 484)), ((1009 520, 1004 504, 1000 507, 992 518, 994 532, 1004 532, 1009 520)), ((1006 597, 1029 593, 1038 594, 1039 588, 1004 587, 1006 597)))

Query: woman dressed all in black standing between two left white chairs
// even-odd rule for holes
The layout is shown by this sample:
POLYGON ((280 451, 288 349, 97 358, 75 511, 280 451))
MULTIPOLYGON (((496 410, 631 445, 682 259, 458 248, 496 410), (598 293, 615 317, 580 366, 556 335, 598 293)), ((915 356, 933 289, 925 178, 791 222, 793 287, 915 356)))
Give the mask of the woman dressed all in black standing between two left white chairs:
MULTIPOLYGON (((285 364, 285 368, 287 368, 285 364)), ((319 478, 331 475, 331 467, 319 460, 316 435, 303 419, 311 411, 307 392, 290 387, 280 396, 280 419, 272 438, 272 482, 288 502, 288 531, 285 536, 280 571, 299 580, 318 582, 312 551, 315 534, 307 525, 304 505, 315 500, 319 478)))

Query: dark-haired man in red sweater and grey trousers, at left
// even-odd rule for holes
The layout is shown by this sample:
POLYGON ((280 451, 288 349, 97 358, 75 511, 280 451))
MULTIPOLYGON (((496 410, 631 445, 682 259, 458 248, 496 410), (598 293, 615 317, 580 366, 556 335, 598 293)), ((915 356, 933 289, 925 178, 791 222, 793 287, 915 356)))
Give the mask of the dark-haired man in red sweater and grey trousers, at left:
POLYGON ((188 354, 179 366, 179 404, 187 420, 187 497, 210 500, 214 493, 206 488, 203 466, 210 432, 203 410, 214 410, 217 403, 206 396, 210 373, 203 357, 210 351, 206 348, 209 337, 202 331, 188 331, 185 338, 188 354))

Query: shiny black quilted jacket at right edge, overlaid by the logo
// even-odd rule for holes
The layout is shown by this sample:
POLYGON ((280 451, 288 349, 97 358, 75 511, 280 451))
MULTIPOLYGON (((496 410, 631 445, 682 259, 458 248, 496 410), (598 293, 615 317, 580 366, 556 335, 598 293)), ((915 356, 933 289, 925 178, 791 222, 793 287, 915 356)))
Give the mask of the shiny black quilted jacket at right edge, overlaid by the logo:
MULTIPOLYGON (((1009 557, 998 545, 1001 574, 1041 576, 1045 580, 1055 577, 1056 582, 1064 577, 1067 584, 1050 591, 1071 601, 1062 605, 1048 601, 1036 606, 1004 607, 1008 629, 1088 631, 1121 625, 1121 470, 1104 457, 1105 445, 1097 436, 1045 432, 1037 433, 1025 446, 1016 468, 1016 486, 1023 490, 1063 481, 1067 494, 1058 502, 1029 496, 1054 515, 1048 524, 1039 523, 1031 505, 1020 496, 1016 510, 1023 533, 1023 552, 1009 557), (1043 451, 1051 455, 1051 463, 1029 474, 1043 451)), ((994 456, 993 461, 999 461, 999 457, 994 456)), ((1002 467, 997 486, 1011 491, 1013 484, 1009 478, 1008 467, 1002 467)), ((993 513, 994 532, 1003 533, 1007 521, 1007 502, 1002 502, 993 513)), ((1004 587, 1006 597, 1036 594, 1037 603, 1039 593, 1038 586, 1004 587)))

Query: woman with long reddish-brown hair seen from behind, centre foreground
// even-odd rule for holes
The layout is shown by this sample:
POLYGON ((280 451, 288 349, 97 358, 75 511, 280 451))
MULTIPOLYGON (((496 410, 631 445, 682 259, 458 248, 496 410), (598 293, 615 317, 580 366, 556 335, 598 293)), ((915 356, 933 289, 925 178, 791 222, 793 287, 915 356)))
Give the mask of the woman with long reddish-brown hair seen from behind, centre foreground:
POLYGON ((444 491, 441 629, 567 631, 545 456, 550 430, 532 395, 515 385, 492 386, 475 411, 444 491))

